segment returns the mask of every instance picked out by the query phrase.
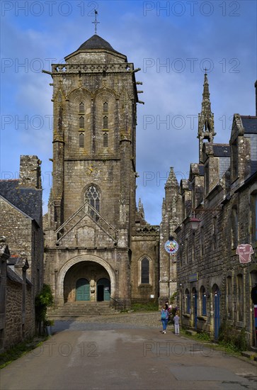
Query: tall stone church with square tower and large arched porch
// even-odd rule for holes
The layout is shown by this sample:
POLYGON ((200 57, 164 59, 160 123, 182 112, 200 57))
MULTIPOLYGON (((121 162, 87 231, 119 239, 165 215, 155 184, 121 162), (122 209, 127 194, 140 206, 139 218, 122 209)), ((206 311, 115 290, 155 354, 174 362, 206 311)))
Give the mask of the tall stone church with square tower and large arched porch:
POLYGON ((98 35, 52 65, 52 191, 45 282, 57 306, 156 299, 159 226, 136 206, 134 68, 98 35))

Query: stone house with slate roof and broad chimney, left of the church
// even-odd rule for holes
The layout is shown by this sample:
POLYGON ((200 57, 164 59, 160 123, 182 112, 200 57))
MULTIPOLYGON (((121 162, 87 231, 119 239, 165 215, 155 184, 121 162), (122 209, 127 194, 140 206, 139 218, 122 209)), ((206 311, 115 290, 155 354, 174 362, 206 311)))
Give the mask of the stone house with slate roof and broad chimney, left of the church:
POLYGON ((43 283, 40 177, 38 157, 21 156, 19 179, 0 181, 0 350, 35 334, 34 301, 43 283))

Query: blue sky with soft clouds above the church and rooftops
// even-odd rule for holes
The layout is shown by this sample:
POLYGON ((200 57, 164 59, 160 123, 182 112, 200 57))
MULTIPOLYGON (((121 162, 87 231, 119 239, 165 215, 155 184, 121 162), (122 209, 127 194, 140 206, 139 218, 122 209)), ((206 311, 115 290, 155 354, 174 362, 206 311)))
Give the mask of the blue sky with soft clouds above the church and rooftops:
POLYGON ((51 62, 64 62, 94 33, 140 67, 137 199, 161 221, 169 168, 178 182, 198 162, 198 113, 208 69, 216 143, 232 116, 255 115, 256 1, 1 1, 1 179, 20 155, 42 160, 44 211, 51 186, 51 62))

